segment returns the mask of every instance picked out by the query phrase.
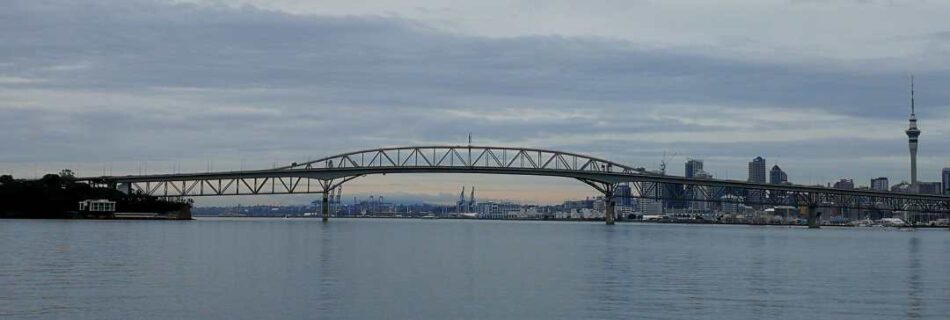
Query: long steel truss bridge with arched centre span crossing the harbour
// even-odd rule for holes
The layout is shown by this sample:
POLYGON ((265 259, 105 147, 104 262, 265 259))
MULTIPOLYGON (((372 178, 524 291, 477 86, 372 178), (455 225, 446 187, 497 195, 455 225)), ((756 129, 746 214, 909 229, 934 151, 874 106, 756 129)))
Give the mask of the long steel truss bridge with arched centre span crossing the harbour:
POLYGON ((950 215, 948 196, 686 178, 571 152, 490 146, 378 148, 266 170, 99 176, 79 180, 160 197, 322 193, 322 214, 326 221, 330 216, 330 191, 358 177, 390 173, 480 173, 576 179, 604 195, 607 224, 615 220, 614 191, 619 184, 628 184, 633 197, 644 199, 807 207, 809 224, 813 227, 817 227, 815 209, 819 207, 950 215))

